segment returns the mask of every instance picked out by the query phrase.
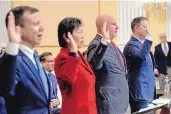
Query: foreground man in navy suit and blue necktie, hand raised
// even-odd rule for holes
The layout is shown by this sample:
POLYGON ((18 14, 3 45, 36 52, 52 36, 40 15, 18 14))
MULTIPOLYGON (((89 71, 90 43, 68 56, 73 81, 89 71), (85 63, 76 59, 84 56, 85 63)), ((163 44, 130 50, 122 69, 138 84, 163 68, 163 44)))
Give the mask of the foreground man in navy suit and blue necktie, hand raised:
POLYGON ((39 11, 18 6, 6 16, 9 42, 0 65, 0 87, 8 114, 49 114, 47 76, 34 47, 42 40, 39 11))

